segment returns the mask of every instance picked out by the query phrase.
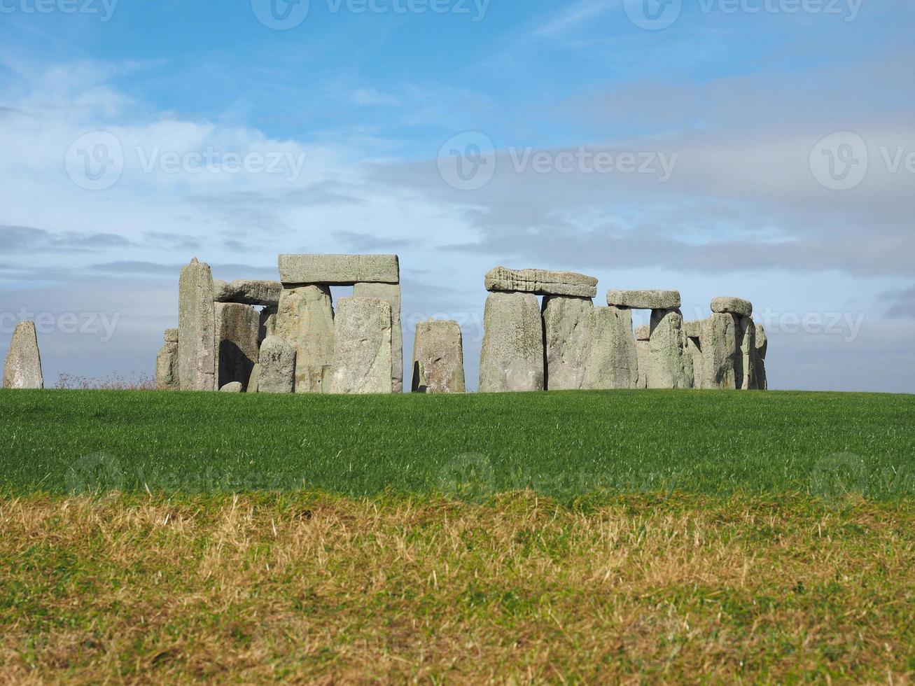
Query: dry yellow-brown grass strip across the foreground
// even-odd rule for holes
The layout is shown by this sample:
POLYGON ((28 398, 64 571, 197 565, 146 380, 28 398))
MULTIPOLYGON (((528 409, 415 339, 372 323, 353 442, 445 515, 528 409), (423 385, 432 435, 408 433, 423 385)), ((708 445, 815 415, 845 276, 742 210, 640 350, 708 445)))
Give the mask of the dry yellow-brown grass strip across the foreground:
POLYGON ((0 499, 0 681, 906 683, 913 515, 0 499))

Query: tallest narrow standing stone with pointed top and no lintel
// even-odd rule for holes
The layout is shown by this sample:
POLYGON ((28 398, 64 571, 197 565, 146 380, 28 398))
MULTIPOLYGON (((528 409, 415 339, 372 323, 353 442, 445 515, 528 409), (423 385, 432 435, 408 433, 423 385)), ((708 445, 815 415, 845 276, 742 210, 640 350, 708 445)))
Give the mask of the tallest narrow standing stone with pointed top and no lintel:
POLYGON ((213 275, 196 257, 178 281, 178 380, 182 391, 212 391, 216 383, 213 275))

